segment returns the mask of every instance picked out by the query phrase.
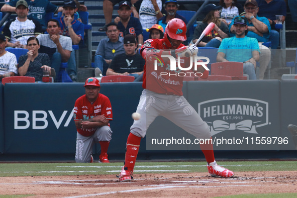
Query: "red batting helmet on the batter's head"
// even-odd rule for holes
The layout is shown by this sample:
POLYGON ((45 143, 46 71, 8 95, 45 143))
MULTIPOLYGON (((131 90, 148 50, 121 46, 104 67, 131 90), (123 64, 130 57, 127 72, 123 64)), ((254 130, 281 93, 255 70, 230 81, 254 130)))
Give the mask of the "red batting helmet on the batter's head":
POLYGON ((185 41, 186 40, 186 25, 181 19, 171 19, 165 28, 164 33, 164 42, 167 47, 172 47, 171 42, 168 39, 168 36, 171 39, 185 41))

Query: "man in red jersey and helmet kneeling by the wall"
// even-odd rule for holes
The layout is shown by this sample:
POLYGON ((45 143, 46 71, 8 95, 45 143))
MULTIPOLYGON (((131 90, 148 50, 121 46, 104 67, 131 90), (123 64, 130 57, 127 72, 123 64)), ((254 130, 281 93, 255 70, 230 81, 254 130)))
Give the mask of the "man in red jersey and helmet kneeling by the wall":
POLYGON ((85 94, 74 105, 74 122, 77 129, 75 161, 93 162, 92 148, 100 143, 99 162, 109 163, 107 150, 112 139, 109 121, 113 120, 112 105, 107 96, 100 92, 100 82, 96 78, 87 78, 84 84, 85 94))

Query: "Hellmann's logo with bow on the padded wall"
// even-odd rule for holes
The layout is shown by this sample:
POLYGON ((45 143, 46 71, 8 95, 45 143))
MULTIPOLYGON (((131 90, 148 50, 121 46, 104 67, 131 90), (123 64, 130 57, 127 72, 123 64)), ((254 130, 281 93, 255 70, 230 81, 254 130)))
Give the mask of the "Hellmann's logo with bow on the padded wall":
POLYGON ((218 98, 198 104, 198 113, 210 126, 211 134, 239 130, 258 134, 268 124, 268 103, 253 98, 218 98))

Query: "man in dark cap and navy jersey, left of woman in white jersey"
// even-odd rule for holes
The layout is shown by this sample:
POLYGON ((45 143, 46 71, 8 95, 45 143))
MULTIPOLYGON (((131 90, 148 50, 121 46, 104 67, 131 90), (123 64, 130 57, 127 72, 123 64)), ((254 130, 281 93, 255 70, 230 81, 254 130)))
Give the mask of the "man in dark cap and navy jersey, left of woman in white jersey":
POLYGON ((132 34, 136 37, 139 43, 137 47, 138 49, 143 43, 142 26, 139 19, 131 17, 131 13, 131 3, 128 1, 120 2, 118 10, 119 17, 115 19, 115 23, 118 24, 121 37, 124 37, 127 34, 132 34))

